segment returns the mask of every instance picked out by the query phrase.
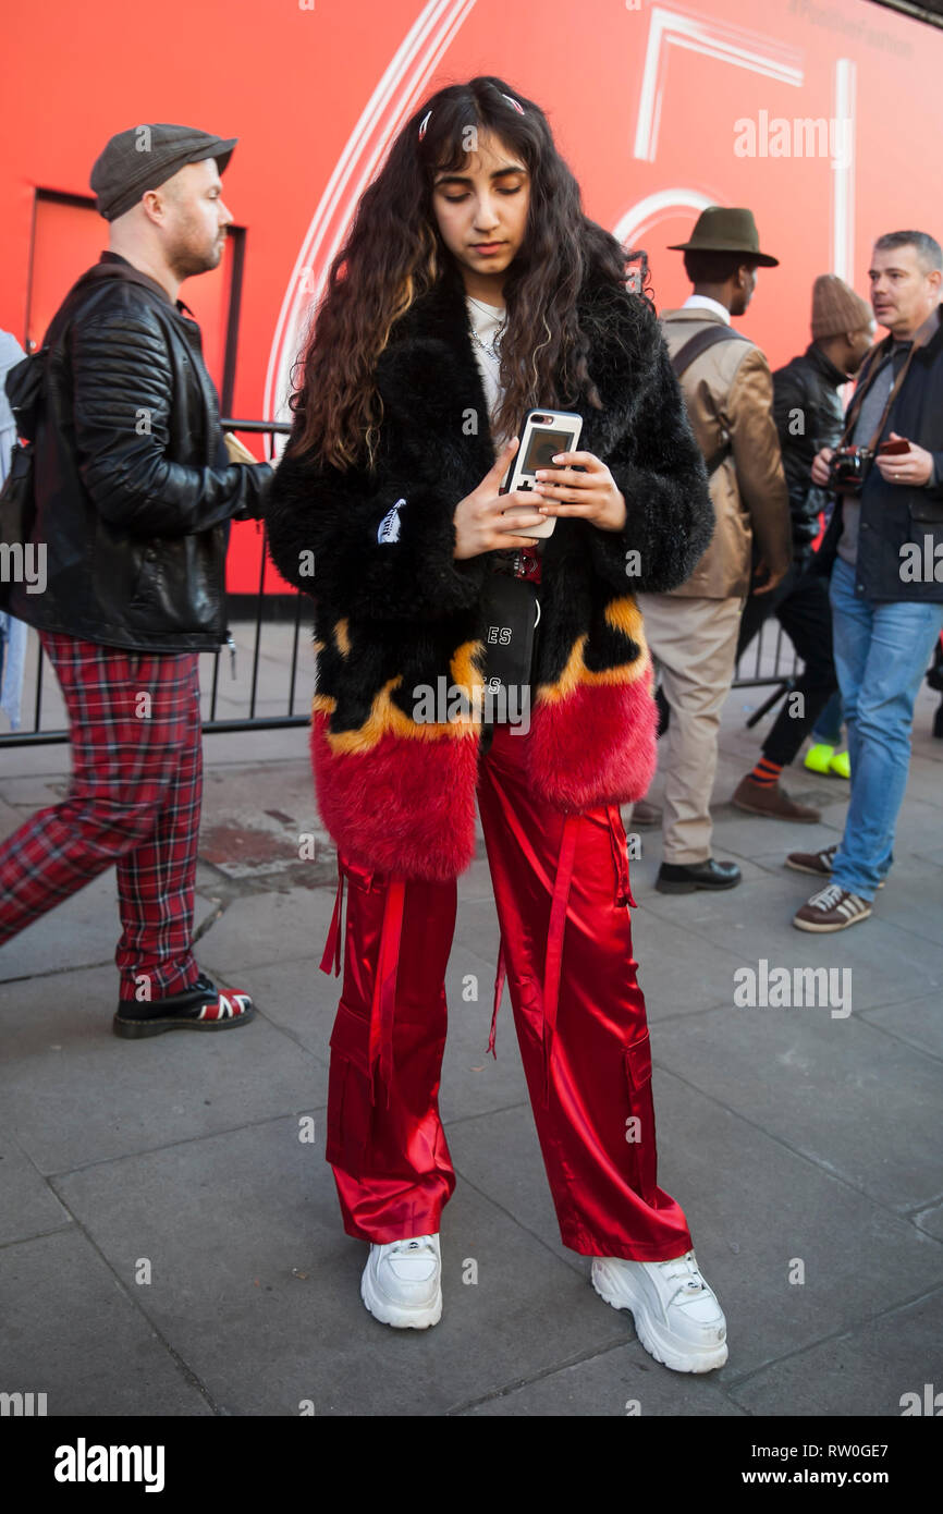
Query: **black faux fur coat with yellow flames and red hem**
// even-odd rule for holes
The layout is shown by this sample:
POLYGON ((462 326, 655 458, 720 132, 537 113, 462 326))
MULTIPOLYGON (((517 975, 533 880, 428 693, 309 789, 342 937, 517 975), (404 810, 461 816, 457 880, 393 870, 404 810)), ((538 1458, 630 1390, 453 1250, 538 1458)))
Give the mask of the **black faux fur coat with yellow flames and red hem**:
MULTIPOLYGON (((519 739, 534 790, 568 813, 645 793, 655 707, 634 592, 683 583, 713 531, 704 463, 651 307, 590 276, 580 310, 604 409, 569 409, 583 415, 580 448, 607 463, 628 518, 622 531, 559 518, 543 544, 531 727, 519 739)), ((456 269, 394 326, 377 386, 375 472, 283 459, 268 540, 279 571, 315 604, 312 762, 330 836, 351 863, 445 881, 475 852, 474 690, 492 557, 454 559, 453 516, 495 462, 456 269), (378 540, 403 500, 398 539, 378 540), (419 686, 462 686, 469 706, 439 724, 415 719, 419 686)))

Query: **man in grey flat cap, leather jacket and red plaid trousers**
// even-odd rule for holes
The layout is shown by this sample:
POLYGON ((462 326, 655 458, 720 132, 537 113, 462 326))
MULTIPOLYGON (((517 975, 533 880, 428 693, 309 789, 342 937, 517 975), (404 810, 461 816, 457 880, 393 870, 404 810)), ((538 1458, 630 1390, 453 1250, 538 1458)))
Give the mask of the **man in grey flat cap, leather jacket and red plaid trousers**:
POLYGON ((44 351, 11 374, 35 413, 42 592, 11 584, 39 631, 73 742, 68 798, 0 848, 0 943, 117 864, 118 1036, 224 1030, 253 1017, 192 955, 201 801, 198 654, 227 639, 229 522, 263 515, 271 468, 219 428, 200 329, 177 291, 215 268, 235 141, 180 126, 114 136, 92 170, 109 251, 73 286, 44 351))

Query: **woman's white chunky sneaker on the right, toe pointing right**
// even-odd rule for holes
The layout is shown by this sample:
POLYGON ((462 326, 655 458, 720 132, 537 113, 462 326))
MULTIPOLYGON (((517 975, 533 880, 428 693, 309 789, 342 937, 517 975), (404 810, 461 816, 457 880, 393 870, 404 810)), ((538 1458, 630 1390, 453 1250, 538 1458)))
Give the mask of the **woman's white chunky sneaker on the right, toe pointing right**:
POLYGON ((593 1288, 631 1310, 645 1349, 672 1372, 713 1372, 727 1361, 727 1320, 693 1251, 672 1261, 593 1257, 593 1288))

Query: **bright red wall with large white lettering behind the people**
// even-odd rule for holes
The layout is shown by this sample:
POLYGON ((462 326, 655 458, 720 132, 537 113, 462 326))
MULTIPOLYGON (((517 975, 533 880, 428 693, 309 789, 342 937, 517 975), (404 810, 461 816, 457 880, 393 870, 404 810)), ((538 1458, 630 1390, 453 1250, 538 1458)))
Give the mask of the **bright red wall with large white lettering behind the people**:
MULTIPOLYGON (((751 206, 763 248, 783 266, 760 273, 742 329, 773 366, 808 341, 816 274, 845 273, 866 294, 876 235, 919 227, 943 236, 943 33, 869 0, 313 0, 312 9, 297 0, 162 0, 157 9, 45 0, 8 12, 3 53, 0 326, 23 339, 36 188, 88 192, 107 136, 141 121, 238 136, 226 200, 247 229, 233 406, 242 416, 263 413, 279 315, 345 151, 362 171, 425 94, 475 73, 500 74, 543 106, 602 224, 615 230, 633 206, 663 195, 642 236, 660 306, 687 294, 681 254, 666 247, 686 238, 696 197, 751 206), (412 56, 366 121, 410 29, 412 56), (646 77, 657 86, 649 95, 646 77), (855 120, 846 209, 828 157, 734 150, 734 123, 760 112, 790 123, 851 115, 851 103, 836 104, 836 80, 855 120), (639 156, 640 118, 657 118, 654 157, 639 156)), ((315 283, 356 189, 354 173, 322 215, 331 235, 313 259, 315 283)), ((106 235, 103 221, 101 247, 106 235)), ((82 259, 68 268, 65 251, 67 282, 80 271, 82 259)), ((195 285, 182 291, 194 307, 195 285)), ((283 348, 292 345, 289 330, 283 348)), ((236 531, 230 587, 254 586, 256 542, 251 528, 236 531)))

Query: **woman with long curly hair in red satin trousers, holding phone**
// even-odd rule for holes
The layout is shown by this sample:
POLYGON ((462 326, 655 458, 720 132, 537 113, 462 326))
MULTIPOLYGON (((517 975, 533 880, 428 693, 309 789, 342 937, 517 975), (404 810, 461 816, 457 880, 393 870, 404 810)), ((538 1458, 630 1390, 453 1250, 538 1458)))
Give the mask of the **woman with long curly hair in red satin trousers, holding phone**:
POLYGON ((493 1014, 507 974, 563 1243, 646 1350, 708 1372, 727 1328, 655 1181, 619 805, 655 762, 633 595, 687 577, 713 513, 639 256, 583 213, 534 101, 495 77, 440 89, 331 265, 268 531, 315 609, 312 759, 339 874, 324 970, 344 940, 327 1160, 369 1241, 363 1302, 394 1326, 442 1311, 445 972, 477 799, 493 1014), (501 494, 534 407, 577 412, 578 447, 501 494), (487 696, 518 640, 509 719, 487 696))

